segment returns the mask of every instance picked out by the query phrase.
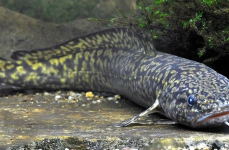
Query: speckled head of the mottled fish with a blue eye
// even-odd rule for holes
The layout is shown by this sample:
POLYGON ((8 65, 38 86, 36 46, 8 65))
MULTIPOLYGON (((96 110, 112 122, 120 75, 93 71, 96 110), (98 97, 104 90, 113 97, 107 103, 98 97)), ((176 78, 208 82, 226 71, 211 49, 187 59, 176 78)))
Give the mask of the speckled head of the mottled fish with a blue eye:
POLYGON ((161 92, 160 107, 168 118, 193 128, 228 124, 229 80, 212 70, 183 76, 161 92))

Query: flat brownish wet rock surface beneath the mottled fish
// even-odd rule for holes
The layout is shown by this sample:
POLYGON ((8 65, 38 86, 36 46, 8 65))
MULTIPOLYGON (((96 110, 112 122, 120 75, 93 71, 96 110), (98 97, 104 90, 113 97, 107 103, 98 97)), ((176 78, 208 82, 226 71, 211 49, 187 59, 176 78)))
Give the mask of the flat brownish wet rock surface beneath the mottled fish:
POLYGON ((171 124, 113 127, 143 111, 115 96, 88 98, 86 93, 69 91, 18 93, 2 97, 0 103, 1 148, 184 149, 228 148, 229 143, 227 126, 205 130, 171 124))

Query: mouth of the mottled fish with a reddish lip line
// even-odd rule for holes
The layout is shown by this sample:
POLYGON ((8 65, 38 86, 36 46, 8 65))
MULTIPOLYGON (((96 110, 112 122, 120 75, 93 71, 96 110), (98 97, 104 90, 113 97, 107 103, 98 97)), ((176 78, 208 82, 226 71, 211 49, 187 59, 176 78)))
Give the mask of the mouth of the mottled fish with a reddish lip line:
POLYGON ((198 126, 220 126, 222 124, 228 125, 227 122, 229 120, 229 110, 219 112, 219 113, 211 113, 205 116, 198 117, 192 120, 192 125, 195 127, 198 126))

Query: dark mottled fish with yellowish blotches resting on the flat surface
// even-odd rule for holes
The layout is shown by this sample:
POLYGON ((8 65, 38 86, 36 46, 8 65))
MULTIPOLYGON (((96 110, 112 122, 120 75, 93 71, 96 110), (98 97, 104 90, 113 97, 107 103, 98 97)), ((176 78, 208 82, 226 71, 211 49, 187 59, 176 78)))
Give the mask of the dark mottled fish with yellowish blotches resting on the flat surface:
POLYGON ((229 80, 210 67, 156 50, 150 37, 111 28, 0 59, 4 89, 84 90, 119 94, 144 107, 115 124, 152 113, 191 128, 228 125, 229 80))

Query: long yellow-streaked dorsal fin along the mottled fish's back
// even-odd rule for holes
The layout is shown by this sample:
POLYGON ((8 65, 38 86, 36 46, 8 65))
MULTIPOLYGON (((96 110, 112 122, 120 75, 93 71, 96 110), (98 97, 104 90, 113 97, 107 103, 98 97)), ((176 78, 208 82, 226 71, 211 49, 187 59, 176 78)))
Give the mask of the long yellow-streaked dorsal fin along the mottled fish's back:
POLYGON ((151 55, 156 55, 156 50, 150 38, 134 33, 128 28, 112 28, 81 36, 49 48, 15 51, 11 58, 14 60, 48 60, 84 50, 107 48, 122 48, 143 52, 150 50, 151 55))

